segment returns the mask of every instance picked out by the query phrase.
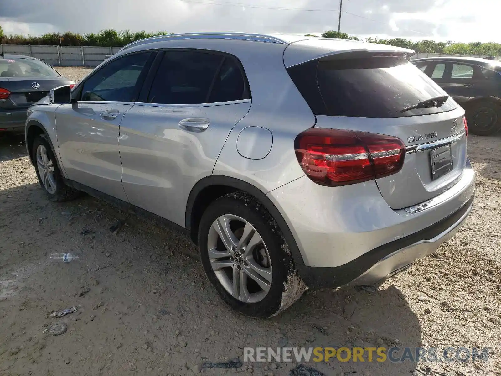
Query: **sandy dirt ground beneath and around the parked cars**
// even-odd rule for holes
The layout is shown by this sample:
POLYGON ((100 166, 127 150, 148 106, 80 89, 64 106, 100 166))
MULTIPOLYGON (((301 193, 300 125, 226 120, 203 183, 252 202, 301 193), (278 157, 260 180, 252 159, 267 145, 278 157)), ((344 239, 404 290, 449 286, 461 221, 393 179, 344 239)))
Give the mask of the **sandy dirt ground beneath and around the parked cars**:
MULTIPOLYGON (((58 70, 75 81, 89 72, 58 70)), ((489 358, 308 365, 326 376, 501 374, 500 150, 499 135, 469 137, 474 209, 435 254, 376 292, 309 290, 278 317, 253 320, 222 303, 180 233, 91 197, 49 202, 23 137, 0 138, 0 375, 315 375, 291 371, 294 362, 201 366, 242 360, 247 346, 341 345, 488 347, 489 358), (53 252, 81 259, 51 263, 53 252), (49 335, 55 323, 67 331, 49 335)))

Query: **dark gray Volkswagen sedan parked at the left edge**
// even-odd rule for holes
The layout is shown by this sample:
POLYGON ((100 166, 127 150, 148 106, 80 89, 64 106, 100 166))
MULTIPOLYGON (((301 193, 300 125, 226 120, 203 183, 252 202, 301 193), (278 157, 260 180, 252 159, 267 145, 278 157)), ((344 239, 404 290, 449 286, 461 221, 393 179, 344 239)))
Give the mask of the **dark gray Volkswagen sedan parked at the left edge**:
POLYGON ((75 83, 41 60, 0 55, 0 132, 24 131, 28 107, 61 85, 75 83))

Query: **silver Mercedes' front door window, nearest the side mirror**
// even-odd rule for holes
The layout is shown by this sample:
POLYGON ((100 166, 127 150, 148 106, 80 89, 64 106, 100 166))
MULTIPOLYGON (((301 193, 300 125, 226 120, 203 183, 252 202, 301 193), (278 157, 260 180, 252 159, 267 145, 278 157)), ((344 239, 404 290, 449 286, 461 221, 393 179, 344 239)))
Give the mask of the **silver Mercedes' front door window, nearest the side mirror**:
POLYGON ((139 76, 150 54, 132 54, 105 65, 84 83, 81 100, 135 101, 142 84, 139 76))

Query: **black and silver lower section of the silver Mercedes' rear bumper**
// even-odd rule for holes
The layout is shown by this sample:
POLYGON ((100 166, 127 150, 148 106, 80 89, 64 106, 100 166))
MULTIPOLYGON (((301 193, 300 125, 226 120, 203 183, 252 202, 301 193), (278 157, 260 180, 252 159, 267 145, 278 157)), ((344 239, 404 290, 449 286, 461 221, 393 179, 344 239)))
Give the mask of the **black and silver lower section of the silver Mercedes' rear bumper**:
POLYGON ((463 225, 471 212, 474 194, 455 213, 415 234, 377 247, 351 262, 331 268, 297 265, 308 287, 372 285, 405 270, 415 260, 434 252, 463 225))

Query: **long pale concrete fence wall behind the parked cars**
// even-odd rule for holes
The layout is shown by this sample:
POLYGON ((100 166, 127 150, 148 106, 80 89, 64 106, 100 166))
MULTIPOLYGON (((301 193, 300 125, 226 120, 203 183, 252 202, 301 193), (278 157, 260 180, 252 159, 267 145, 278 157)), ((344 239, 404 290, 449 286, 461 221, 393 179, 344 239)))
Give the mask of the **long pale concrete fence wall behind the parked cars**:
MULTIPOLYGON (((99 65, 106 55, 116 54, 121 47, 78 47, 78 46, 31 46, 31 45, 1 45, 0 51, 6 54, 28 55, 43 60, 52 66, 85 66, 99 65)), ((451 55, 451 54, 416 54, 412 59, 439 56, 468 56, 484 58, 486 55, 451 55)))

